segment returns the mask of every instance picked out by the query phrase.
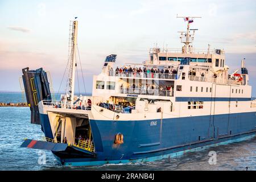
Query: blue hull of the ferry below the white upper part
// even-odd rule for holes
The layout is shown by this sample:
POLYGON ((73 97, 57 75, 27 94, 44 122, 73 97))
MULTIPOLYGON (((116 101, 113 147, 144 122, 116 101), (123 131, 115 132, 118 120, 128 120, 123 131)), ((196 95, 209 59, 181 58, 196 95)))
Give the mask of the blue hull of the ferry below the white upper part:
MULTIPOLYGON (((42 130, 51 138, 47 115, 40 114, 42 130)), ((100 121, 90 119, 94 158, 65 158, 53 152, 60 164, 94 166, 129 162, 151 162, 204 150, 210 146, 253 138, 256 112, 205 115, 143 121, 100 121), (156 121, 156 125, 150 123, 156 121), (114 144, 115 134, 123 134, 123 144, 114 144)))

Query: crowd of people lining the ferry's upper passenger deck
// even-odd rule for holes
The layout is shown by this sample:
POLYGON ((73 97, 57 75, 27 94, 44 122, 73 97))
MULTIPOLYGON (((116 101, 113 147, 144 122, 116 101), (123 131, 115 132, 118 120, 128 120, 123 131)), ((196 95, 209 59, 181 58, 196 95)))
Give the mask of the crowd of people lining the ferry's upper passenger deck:
POLYGON ((140 77, 144 75, 145 77, 151 78, 172 78, 177 74, 177 70, 174 68, 166 68, 166 69, 159 69, 159 68, 146 68, 143 69, 141 67, 132 68, 132 67, 123 67, 123 68, 116 68, 115 71, 113 68, 110 68, 109 75, 110 76, 127 76, 127 77, 140 77))

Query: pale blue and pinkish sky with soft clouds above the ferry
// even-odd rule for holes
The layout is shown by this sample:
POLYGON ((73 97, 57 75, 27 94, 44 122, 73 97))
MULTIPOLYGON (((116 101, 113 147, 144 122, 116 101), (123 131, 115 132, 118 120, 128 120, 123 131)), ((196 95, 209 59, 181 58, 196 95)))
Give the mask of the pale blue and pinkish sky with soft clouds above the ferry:
MULTIPOLYGON (((0 90, 19 91, 22 68, 44 68, 53 89, 64 90, 61 78, 68 61, 69 21, 77 16, 78 47, 86 92, 101 72, 105 57, 117 54, 117 65, 142 63, 156 43, 180 48, 186 24, 179 16, 201 16, 193 47, 225 49, 230 71, 245 58, 256 96, 256 1, 232 0, 0 0, 0 90)), ((80 90, 81 71, 79 70, 80 90)), ((77 88, 76 84, 76 90, 77 88)))

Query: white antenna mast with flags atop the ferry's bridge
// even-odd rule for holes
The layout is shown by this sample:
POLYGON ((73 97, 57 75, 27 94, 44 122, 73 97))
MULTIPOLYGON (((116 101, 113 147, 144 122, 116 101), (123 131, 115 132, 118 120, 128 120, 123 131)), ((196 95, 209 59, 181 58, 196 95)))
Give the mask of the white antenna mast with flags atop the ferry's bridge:
POLYGON ((193 42, 194 36, 195 36, 195 31, 198 29, 189 29, 190 23, 194 22, 195 18, 202 18, 201 16, 176 16, 176 18, 183 18, 185 22, 187 22, 187 31, 179 31, 181 36, 180 40, 181 43, 185 44, 185 47, 182 49, 182 53, 189 53, 192 51, 192 48, 190 49, 189 44, 193 42), (193 34, 190 34, 190 31, 193 31, 193 34))

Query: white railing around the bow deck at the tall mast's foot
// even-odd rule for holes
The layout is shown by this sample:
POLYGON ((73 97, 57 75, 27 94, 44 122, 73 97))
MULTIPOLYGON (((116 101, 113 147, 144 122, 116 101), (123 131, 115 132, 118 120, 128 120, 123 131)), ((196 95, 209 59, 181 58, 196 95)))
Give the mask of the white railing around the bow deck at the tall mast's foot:
POLYGON ((81 110, 90 110, 91 106, 80 104, 81 102, 75 101, 56 101, 56 100, 44 100, 42 101, 44 106, 54 107, 54 108, 64 108, 64 109, 81 109, 81 110))

